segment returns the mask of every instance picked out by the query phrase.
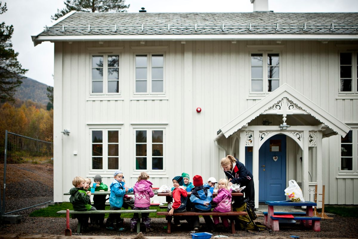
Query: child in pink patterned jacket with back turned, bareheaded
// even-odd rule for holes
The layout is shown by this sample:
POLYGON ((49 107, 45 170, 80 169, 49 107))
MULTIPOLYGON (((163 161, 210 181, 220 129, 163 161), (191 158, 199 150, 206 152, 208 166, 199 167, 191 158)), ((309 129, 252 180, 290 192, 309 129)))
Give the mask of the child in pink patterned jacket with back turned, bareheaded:
MULTIPOLYGON (((149 182, 148 179, 149 175, 146 172, 141 172, 137 183, 133 187, 134 210, 147 210, 150 207, 150 198, 154 197, 154 192, 152 190, 153 183, 149 182)), ((134 231, 138 220, 140 220, 138 214, 134 213, 131 219, 131 231, 134 231)), ((142 213, 142 223, 145 225, 146 232, 154 231, 153 228, 150 228, 149 213, 142 213)))

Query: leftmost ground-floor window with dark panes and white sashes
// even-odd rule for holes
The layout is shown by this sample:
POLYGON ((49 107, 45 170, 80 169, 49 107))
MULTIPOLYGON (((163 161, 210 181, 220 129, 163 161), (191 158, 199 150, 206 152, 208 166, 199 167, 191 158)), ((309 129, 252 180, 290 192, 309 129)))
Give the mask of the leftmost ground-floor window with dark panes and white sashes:
POLYGON ((93 129, 91 131, 92 169, 119 168, 119 130, 93 129))

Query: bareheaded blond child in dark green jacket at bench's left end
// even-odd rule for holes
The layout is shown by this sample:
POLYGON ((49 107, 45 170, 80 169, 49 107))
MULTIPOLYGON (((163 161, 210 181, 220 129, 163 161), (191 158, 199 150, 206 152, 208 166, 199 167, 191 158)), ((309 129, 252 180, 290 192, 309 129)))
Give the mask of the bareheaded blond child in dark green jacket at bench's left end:
MULTIPOLYGON (((96 210, 96 207, 91 206, 89 204, 89 199, 91 197, 91 191, 88 193, 84 191, 85 180, 82 177, 74 177, 72 180, 72 185, 74 186, 69 190, 71 196, 69 197, 69 201, 73 205, 73 210, 75 211, 92 211, 96 210)), ((96 216, 91 214, 79 214, 76 215, 77 219, 82 222, 84 229, 89 229, 88 227, 88 217, 91 218, 91 221, 95 221, 96 216)))

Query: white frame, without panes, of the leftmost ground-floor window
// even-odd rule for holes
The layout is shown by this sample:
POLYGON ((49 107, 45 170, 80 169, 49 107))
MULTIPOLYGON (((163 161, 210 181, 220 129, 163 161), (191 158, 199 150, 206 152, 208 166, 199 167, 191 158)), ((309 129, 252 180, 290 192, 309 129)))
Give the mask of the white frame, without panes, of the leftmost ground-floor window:
MULTIPOLYGON (((118 126, 91 126, 89 128, 89 170, 90 172, 97 173, 110 173, 112 174, 118 169, 108 169, 108 131, 118 131, 118 169, 121 169, 121 128, 118 126), (102 131, 102 169, 93 169, 92 168, 92 132, 93 131, 102 131)), ((111 143, 112 144, 112 143, 111 143)))

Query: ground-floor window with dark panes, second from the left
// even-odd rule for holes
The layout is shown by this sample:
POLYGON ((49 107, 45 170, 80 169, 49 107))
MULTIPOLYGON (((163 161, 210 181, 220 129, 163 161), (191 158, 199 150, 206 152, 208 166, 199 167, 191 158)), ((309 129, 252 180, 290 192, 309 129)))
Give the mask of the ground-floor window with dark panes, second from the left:
POLYGON ((135 170, 163 171, 164 129, 135 129, 135 170))

